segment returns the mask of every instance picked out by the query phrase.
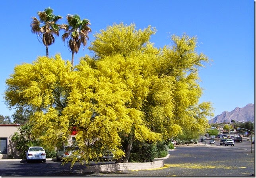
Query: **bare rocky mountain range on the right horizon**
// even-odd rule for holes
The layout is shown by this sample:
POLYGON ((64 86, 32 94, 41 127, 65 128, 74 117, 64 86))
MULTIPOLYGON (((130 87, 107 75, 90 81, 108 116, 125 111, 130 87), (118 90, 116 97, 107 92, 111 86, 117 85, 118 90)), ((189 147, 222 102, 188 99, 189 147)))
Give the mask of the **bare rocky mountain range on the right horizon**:
POLYGON ((222 123, 222 122, 231 122, 231 119, 235 120, 235 122, 246 122, 251 121, 254 122, 254 104, 247 104, 246 106, 239 108, 236 107, 231 112, 224 111, 221 114, 215 116, 215 118, 212 118, 209 120, 209 124, 213 123, 222 123))

